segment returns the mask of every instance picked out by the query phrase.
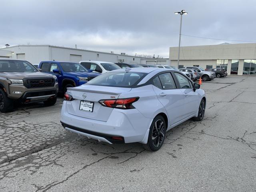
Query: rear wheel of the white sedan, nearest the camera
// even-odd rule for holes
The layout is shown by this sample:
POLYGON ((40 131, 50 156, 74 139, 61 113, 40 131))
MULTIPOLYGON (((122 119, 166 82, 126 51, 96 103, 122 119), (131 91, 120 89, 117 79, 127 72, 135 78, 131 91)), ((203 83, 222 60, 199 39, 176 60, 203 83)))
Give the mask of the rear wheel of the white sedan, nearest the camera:
POLYGON ((144 148, 148 151, 159 150, 163 143, 166 133, 166 123, 162 116, 158 115, 154 118, 149 134, 147 144, 143 144, 144 148), (153 139, 154 138, 154 139, 153 139))

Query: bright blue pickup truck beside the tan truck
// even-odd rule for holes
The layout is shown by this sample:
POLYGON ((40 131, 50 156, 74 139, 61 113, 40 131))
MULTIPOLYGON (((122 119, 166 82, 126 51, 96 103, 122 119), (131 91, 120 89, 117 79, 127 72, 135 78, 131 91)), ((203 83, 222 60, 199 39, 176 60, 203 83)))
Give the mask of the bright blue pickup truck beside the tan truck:
POLYGON ((41 61, 39 69, 44 73, 56 75, 60 92, 66 92, 68 87, 76 87, 87 83, 100 75, 90 72, 79 63, 60 61, 41 61))

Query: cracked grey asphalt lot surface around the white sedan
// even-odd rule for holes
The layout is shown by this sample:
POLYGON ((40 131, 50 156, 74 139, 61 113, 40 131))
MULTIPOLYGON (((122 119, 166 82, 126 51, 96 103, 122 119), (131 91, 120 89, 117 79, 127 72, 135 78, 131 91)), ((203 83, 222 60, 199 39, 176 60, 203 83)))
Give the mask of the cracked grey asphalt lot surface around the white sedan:
POLYGON ((0 191, 256 191, 256 77, 203 82, 206 113, 157 152, 66 132, 55 106, 0 114, 0 191))

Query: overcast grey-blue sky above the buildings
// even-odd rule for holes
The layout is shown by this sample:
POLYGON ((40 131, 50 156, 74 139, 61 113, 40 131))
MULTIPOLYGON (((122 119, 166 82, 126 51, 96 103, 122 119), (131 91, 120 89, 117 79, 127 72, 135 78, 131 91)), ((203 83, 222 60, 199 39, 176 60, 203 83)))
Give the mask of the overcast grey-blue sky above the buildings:
MULTIPOLYGON (((0 46, 50 44, 168 57, 182 34, 256 41, 255 0, 1 0, 0 46)), ((232 42, 182 36, 182 46, 232 42)))

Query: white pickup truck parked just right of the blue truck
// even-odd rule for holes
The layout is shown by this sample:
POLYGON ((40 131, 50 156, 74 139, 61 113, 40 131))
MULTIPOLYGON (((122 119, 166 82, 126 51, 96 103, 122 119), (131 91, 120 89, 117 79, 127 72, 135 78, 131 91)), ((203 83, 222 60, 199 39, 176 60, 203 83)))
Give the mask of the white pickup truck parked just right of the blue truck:
POLYGON ((117 64, 106 61, 80 61, 79 63, 88 70, 93 70, 102 74, 112 70, 120 69, 120 66, 117 64))

